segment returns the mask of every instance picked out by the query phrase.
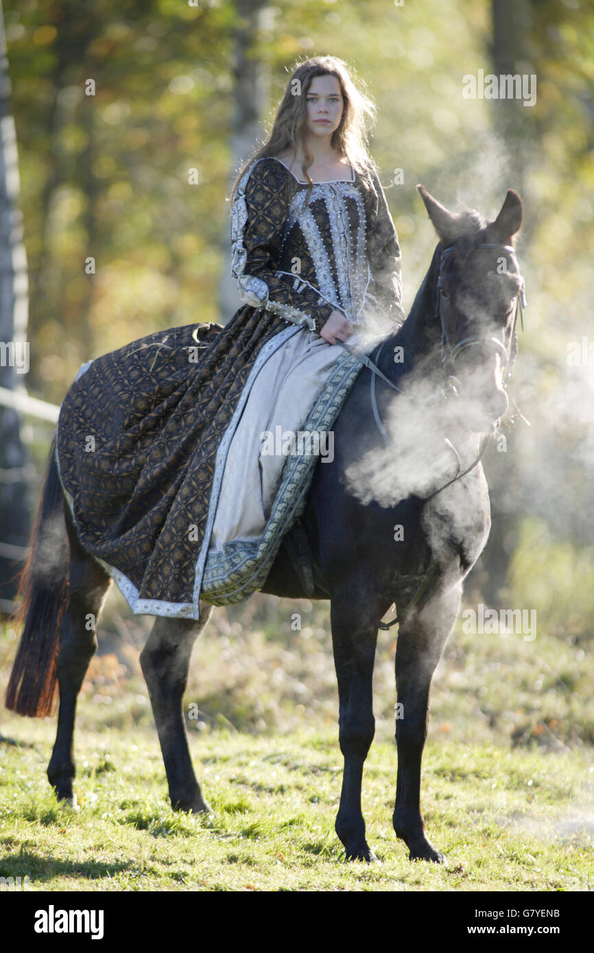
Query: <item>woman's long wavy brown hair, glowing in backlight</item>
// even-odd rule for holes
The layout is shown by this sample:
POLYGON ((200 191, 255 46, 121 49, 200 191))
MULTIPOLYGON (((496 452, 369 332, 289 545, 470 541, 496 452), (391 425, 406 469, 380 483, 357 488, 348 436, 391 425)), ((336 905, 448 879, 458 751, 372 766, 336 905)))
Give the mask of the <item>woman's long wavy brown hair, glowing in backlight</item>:
POLYGON ((314 156, 307 147, 307 91, 315 76, 324 75, 337 77, 343 98, 342 118, 338 129, 332 133, 331 145, 359 172, 373 193, 376 193, 371 173, 378 174, 378 169, 367 148, 366 126, 366 121, 370 125, 375 121, 376 106, 358 89, 343 60, 337 56, 314 56, 313 59, 297 64, 265 142, 256 147, 237 173, 229 196, 232 204, 239 179, 256 159, 268 155, 279 156, 288 151, 294 151, 297 155, 297 145, 300 145, 304 156, 301 171, 309 183, 309 198, 314 181, 308 169, 314 161, 314 156))

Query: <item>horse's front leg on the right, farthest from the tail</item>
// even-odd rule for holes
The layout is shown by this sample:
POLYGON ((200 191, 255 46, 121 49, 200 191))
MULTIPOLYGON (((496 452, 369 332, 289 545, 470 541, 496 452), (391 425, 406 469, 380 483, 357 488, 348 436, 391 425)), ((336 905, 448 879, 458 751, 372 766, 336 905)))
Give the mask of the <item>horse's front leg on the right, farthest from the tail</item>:
POLYGON ((425 837, 420 813, 420 762, 427 737, 431 679, 458 615, 460 599, 461 587, 457 586, 433 598, 399 626, 396 649, 398 780, 393 823, 397 837, 409 849, 411 861, 440 863, 444 860, 425 837))

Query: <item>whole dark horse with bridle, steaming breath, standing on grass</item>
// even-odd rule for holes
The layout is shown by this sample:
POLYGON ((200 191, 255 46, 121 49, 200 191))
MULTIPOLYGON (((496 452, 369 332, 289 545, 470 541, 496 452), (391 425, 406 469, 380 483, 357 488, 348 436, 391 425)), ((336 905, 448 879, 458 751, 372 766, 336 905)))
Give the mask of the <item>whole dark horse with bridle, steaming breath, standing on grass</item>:
MULTIPOLYGON (((429 688, 461 601, 462 580, 490 528, 480 463, 485 440, 508 407, 523 282, 512 239, 522 202, 509 191, 493 222, 449 213, 419 187, 440 242, 408 318, 374 351, 335 424, 335 457, 317 465, 301 517, 310 581, 283 545, 262 591, 330 598, 344 756, 336 830, 349 860, 375 860, 360 808, 363 763, 374 737, 372 673, 381 618, 399 615, 396 652, 398 781, 394 828, 411 859, 440 862, 420 813, 420 762, 429 688)), ((57 736, 48 778, 73 802, 75 705, 96 650, 94 625, 111 579, 78 541, 55 462, 40 500, 31 558, 21 581, 25 620, 7 706, 51 711, 59 686, 57 736), (64 517, 65 514, 65 517, 64 517), (44 536, 70 540, 61 578, 44 577, 44 536), (52 527, 49 529, 49 527, 52 527)), ((47 557, 47 549, 45 551, 47 557)), ((174 808, 207 811, 188 750, 182 697, 199 622, 155 619, 141 653, 174 808)))

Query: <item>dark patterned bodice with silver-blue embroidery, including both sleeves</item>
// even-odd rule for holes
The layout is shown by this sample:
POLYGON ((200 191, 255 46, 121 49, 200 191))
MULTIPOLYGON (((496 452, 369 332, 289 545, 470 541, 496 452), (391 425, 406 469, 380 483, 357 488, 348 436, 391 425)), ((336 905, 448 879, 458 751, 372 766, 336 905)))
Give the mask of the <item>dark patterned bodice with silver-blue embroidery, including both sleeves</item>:
POLYGON ((308 195, 284 163, 256 159, 232 213, 232 274, 241 300, 319 331, 333 310, 366 328, 403 320, 400 253, 385 195, 358 172, 317 182, 308 195))

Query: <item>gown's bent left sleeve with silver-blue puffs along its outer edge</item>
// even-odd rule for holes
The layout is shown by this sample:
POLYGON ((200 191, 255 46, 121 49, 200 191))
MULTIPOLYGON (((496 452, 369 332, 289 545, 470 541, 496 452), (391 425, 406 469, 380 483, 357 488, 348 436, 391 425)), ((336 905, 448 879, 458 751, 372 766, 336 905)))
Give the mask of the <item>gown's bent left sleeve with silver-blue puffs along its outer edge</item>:
POLYGON ((288 213, 284 167, 274 159, 256 160, 234 195, 231 273, 242 301, 319 334, 335 306, 297 275, 276 273, 288 213))

